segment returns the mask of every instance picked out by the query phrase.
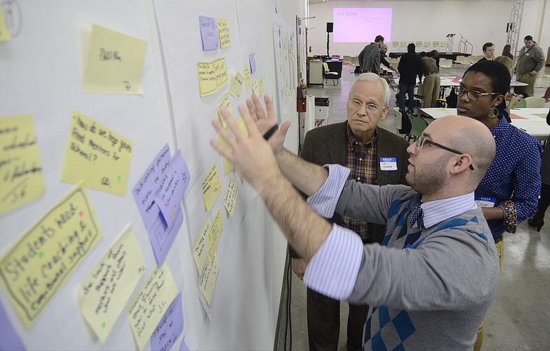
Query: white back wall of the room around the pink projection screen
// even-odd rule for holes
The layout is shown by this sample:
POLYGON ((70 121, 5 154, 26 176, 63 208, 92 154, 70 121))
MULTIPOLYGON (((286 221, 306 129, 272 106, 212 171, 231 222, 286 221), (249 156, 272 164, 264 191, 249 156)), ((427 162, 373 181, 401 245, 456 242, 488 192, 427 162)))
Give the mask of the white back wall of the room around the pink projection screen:
MULTIPOLYGON (((326 23, 333 21, 333 8, 393 8, 391 40, 386 38, 389 52, 391 41, 445 41, 448 33, 456 33, 453 51, 458 51, 460 34, 473 45, 474 55, 481 55, 483 43, 496 45, 496 55, 506 44, 506 24, 510 19, 511 1, 331 1, 310 3, 310 55, 327 53, 326 23)), ((550 3, 547 0, 525 1, 520 43, 526 35, 533 36, 547 52, 550 46, 550 3)), ((358 29, 360 30, 360 29, 358 29)), ((372 38, 374 40, 374 38, 372 38)), ((331 55, 358 55, 367 43, 330 42, 331 55)), ((520 47, 518 47, 519 49, 520 47)))

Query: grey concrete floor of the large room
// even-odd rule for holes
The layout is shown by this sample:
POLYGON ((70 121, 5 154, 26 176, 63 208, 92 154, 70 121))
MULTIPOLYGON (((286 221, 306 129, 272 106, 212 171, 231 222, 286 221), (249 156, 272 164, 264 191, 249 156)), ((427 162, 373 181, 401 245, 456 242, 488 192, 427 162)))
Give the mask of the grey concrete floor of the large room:
MULTIPOLYGON (((456 65, 453 65, 456 66, 456 65)), ((465 68, 442 69, 442 75, 462 74, 465 68)), ((544 95, 550 86, 550 67, 539 74, 536 96, 544 95)), ((344 66, 340 84, 333 86, 331 80, 325 87, 308 87, 308 94, 327 97, 329 123, 346 119, 346 101, 349 87, 355 75, 344 66)), ((447 92, 448 94, 448 92, 447 92)), ((391 112, 380 122, 382 128, 395 133, 395 93, 391 97, 391 112)), ((515 234, 505 235, 503 269, 500 274, 498 293, 485 317, 483 350, 550 350, 550 214, 547 225, 540 233, 527 225, 518 225, 515 234)), ((305 286, 291 273, 290 329, 285 332, 287 313, 281 317, 276 350, 308 350, 305 286), (292 330, 292 339, 290 337, 292 330), (291 346, 292 340, 292 346, 291 346)), ((281 301, 287 299, 285 289, 281 301)), ((340 313, 340 341, 338 350, 346 350, 347 303, 342 302, 340 313)))

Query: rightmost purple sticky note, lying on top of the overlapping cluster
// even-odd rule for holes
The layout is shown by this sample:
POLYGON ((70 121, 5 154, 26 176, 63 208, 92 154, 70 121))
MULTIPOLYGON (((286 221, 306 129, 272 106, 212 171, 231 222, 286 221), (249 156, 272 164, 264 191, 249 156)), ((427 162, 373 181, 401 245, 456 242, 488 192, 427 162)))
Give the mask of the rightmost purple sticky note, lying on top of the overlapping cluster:
POLYGON ((174 213, 184 199, 189 184, 189 169, 181 151, 178 150, 170 161, 170 166, 159 181, 155 203, 168 226, 174 221, 174 213))

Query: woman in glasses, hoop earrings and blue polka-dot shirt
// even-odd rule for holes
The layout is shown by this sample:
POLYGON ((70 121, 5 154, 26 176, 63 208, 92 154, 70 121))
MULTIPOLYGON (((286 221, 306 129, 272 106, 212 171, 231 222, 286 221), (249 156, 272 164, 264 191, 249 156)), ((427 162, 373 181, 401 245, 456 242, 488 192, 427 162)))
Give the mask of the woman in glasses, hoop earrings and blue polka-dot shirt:
MULTIPOLYGON (((496 109, 507 95, 510 80, 503 64, 484 60, 468 68, 456 87, 457 113, 485 124, 496 142, 496 156, 475 196, 489 223, 501 267, 503 233, 515 233, 518 223, 536 213, 540 193, 540 143, 509 124, 496 109)), ((481 350, 482 343, 483 323, 474 350, 481 350)))

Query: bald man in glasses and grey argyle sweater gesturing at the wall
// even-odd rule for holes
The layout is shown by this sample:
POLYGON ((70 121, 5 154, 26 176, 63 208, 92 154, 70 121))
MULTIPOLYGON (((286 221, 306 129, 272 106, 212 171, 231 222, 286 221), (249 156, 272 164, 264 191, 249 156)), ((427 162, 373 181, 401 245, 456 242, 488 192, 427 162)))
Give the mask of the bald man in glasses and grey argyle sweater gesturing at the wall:
MULTIPOLYGON (((350 103, 380 107, 357 100, 350 103)), ((276 121, 270 98, 264 101, 267 116, 257 99, 254 109, 239 108, 248 135, 222 110, 234 137, 219 121, 212 124, 231 150, 216 139, 211 144, 256 188, 309 262, 305 284, 371 305, 365 350, 472 350, 498 285, 496 248, 474 201, 494 158, 489 130, 467 117, 435 120, 408 147, 412 188, 369 185, 347 180, 349 168, 317 166, 285 150, 290 122, 266 141, 263 133, 276 121), (309 195, 309 206, 292 184, 309 195), (350 229, 329 223, 335 212, 385 224, 382 246, 364 245, 350 229)))

